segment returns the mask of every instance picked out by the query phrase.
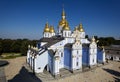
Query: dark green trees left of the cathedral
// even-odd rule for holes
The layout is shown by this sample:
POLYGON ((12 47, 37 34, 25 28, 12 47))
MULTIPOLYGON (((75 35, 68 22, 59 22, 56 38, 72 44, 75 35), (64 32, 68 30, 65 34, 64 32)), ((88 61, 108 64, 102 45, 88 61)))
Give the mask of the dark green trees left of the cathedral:
POLYGON ((0 55, 2 53, 21 53, 26 55, 28 45, 36 46, 37 40, 28 39, 0 39, 0 55))

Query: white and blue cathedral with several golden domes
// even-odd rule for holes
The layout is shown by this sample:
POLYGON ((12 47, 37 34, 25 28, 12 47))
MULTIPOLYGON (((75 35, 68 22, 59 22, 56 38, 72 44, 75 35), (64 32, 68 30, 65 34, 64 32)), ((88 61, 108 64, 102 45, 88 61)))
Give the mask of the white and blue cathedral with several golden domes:
POLYGON ((57 32, 47 22, 36 47, 28 46, 27 63, 35 73, 46 69, 53 76, 58 76, 63 68, 74 73, 82 71, 83 66, 105 63, 105 51, 97 46, 94 36, 91 40, 85 38, 82 24, 71 31, 63 9, 57 32))

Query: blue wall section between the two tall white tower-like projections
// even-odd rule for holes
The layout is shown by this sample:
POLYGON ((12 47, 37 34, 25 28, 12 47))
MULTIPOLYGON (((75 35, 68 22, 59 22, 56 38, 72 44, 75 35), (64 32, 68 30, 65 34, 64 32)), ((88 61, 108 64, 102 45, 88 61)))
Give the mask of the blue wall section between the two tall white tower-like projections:
POLYGON ((89 48, 82 48, 82 64, 89 65, 89 48))

